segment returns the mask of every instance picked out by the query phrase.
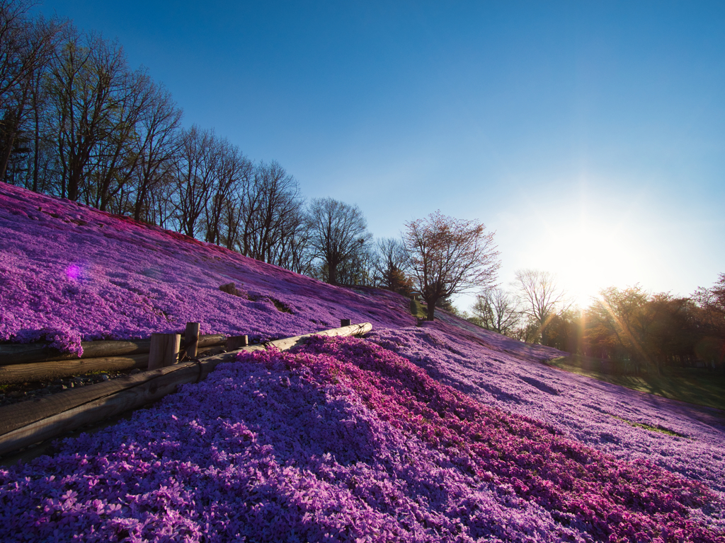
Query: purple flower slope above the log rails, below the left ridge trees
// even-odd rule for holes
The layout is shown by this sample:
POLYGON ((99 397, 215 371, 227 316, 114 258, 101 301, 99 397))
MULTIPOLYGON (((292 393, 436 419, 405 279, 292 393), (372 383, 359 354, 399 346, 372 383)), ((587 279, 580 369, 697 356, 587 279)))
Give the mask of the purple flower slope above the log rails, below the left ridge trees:
POLYGON ((216 245, 0 184, 0 341, 181 332, 270 340, 339 326, 410 326, 404 298, 333 287, 216 245), (245 295, 219 290, 236 283, 245 295))

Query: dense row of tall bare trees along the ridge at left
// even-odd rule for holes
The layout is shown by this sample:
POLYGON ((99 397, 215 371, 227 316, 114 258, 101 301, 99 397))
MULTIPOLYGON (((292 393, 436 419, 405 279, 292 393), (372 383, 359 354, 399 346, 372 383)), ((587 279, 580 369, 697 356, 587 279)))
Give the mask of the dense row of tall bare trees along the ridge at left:
MULTIPOLYGON (((1 181, 333 284, 407 294, 407 270, 440 275, 428 253, 418 269, 401 240, 373 240, 357 206, 308 202, 277 161, 252 162, 213 129, 183 127, 168 90, 130 67, 119 43, 31 7, 0 0, 1 181)), ((449 287, 421 284, 431 307, 449 287)))

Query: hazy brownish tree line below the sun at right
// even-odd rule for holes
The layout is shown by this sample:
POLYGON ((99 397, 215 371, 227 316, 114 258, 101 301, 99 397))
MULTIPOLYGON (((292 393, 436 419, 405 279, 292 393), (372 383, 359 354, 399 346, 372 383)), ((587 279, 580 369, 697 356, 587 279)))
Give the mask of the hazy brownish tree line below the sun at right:
POLYGON ((624 373, 697 365, 725 370, 725 274, 685 297, 641 285, 608 287, 581 309, 567 301, 552 274, 520 270, 513 289, 486 290, 465 317, 518 340, 612 361, 624 373))

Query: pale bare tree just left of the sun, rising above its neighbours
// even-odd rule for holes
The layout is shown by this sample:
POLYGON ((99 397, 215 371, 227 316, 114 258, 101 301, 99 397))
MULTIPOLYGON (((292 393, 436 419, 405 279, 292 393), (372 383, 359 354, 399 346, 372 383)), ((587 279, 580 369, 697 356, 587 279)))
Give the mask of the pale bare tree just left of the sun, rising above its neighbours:
POLYGON ((520 269, 515 273, 515 285, 523 313, 534 319, 542 345, 546 345, 547 328, 552 317, 569 305, 566 293, 560 289, 556 278, 549 271, 520 269))

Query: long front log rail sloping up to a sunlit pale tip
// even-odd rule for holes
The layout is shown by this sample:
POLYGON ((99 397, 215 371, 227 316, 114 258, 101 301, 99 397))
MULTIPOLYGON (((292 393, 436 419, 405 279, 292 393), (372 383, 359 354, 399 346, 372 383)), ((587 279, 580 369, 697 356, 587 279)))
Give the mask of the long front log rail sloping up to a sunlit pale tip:
MULTIPOLYGON (((265 350, 270 346, 289 350, 314 335, 352 336, 364 334, 372 328, 368 322, 352 324, 270 341, 264 345, 249 345, 239 350, 265 350)), ((204 379, 218 364, 233 362, 237 353, 239 351, 176 363, 0 408, 0 455, 157 401, 175 392, 180 384, 204 379)))

